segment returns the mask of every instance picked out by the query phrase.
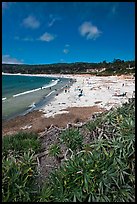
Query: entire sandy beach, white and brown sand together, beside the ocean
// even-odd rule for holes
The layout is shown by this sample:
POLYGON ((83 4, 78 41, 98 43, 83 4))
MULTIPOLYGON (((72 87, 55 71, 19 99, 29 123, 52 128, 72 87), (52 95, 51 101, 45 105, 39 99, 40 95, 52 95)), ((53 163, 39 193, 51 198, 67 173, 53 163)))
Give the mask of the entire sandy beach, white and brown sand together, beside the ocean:
POLYGON ((88 74, 45 76, 72 78, 75 82, 72 86, 65 87, 41 110, 3 122, 3 135, 18 131, 41 132, 52 124, 66 127, 69 122, 84 122, 94 113, 107 111, 127 102, 135 91, 133 76, 100 77, 88 74))

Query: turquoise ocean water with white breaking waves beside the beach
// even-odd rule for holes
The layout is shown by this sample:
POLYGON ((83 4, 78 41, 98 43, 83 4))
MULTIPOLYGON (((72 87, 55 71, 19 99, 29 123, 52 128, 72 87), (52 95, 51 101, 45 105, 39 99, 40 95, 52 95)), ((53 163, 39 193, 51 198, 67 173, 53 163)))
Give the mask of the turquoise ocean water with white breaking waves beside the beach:
POLYGON ((68 78, 3 74, 2 120, 42 108, 69 83, 68 78))

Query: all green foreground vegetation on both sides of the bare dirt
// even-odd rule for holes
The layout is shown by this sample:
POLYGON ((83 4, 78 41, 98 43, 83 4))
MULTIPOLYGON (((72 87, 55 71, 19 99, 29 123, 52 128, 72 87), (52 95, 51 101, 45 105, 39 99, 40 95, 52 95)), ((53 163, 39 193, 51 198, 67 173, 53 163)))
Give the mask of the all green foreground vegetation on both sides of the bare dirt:
POLYGON ((98 115, 84 126, 60 135, 72 156, 52 171, 41 191, 36 187, 35 134, 3 138, 2 200, 4 202, 135 202, 135 100, 98 115), (81 133, 82 132, 82 133, 81 133), (88 144, 83 138, 90 137, 88 144))

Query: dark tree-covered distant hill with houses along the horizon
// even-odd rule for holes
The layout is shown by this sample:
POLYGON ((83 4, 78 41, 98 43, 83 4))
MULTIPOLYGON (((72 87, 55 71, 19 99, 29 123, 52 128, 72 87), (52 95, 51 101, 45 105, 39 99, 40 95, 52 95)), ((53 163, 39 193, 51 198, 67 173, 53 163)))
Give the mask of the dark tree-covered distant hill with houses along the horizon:
POLYGON ((135 61, 114 59, 113 62, 99 63, 56 63, 43 65, 2 64, 2 72, 22 74, 82 74, 96 75, 135 73, 135 61))

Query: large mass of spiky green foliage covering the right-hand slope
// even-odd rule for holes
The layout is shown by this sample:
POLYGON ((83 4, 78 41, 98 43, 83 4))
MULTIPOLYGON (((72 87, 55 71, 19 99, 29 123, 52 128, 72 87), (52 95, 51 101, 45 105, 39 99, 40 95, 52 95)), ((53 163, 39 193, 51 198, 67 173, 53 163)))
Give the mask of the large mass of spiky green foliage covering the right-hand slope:
MULTIPOLYGON (((98 127, 93 127, 92 124, 90 129, 88 125, 91 134, 94 131, 96 137, 50 174, 46 188, 43 188, 41 201, 134 202, 134 111, 133 100, 103 114, 100 118, 103 123, 97 122, 98 127), (97 132, 99 129, 102 129, 102 133, 97 132), (46 192, 50 192, 49 197, 46 192)), ((74 130, 71 133, 67 131, 64 138, 71 138, 73 134, 74 130)))

